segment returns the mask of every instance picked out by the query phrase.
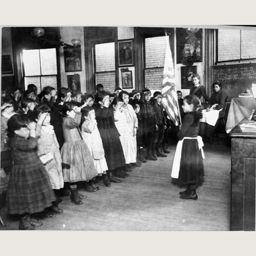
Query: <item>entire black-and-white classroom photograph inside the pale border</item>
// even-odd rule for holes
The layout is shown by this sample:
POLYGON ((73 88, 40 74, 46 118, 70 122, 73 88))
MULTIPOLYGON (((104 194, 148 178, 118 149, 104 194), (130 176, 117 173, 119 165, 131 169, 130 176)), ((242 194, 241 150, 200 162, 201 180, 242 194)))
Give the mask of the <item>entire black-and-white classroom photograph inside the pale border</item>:
POLYGON ((255 231, 254 26, 25 28, 1 28, 0 233, 255 231))

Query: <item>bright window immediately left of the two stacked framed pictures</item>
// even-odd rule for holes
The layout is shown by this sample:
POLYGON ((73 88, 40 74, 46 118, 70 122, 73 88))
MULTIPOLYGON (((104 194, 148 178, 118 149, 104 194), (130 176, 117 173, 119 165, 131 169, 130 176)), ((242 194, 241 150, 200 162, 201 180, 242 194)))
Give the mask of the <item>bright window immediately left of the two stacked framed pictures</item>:
POLYGON ((116 87, 115 43, 95 44, 95 84, 102 84, 104 90, 114 91, 116 87))

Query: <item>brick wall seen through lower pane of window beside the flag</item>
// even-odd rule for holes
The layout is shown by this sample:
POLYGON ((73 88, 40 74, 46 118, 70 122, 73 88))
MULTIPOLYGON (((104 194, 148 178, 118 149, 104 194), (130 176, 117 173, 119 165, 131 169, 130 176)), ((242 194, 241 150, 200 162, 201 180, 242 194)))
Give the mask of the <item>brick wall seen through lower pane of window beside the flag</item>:
POLYGON ((145 86, 150 90, 158 90, 162 88, 163 68, 146 69, 145 70, 145 86))

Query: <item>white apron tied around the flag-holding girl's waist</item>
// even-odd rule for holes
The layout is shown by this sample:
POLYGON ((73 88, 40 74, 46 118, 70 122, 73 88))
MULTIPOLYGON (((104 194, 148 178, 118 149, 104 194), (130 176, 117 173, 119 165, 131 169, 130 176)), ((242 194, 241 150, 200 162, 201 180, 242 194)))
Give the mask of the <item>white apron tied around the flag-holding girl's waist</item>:
POLYGON ((201 150, 202 158, 204 159, 204 152, 203 152, 203 140, 201 136, 197 137, 184 137, 182 140, 178 141, 177 148, 175 151, 173 163, 172 163, 172 170, 171 170, 171 178, 178 179, 179 178, 179 172, 180 172, 180 164, 181 164, 181 153, 182 153, 182 144, 184 139, 197 139, 198 142, 198 148, 201 150))

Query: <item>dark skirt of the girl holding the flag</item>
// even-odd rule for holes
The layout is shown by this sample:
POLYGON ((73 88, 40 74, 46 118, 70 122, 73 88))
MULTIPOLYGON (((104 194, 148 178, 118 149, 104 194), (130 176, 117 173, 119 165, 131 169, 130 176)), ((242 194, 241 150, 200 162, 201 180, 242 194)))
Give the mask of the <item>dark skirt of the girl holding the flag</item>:
POLYGON ((180 161, 179 182, 193 184, 204 176, 202 153, 196 139, 184 139, 180 161))

